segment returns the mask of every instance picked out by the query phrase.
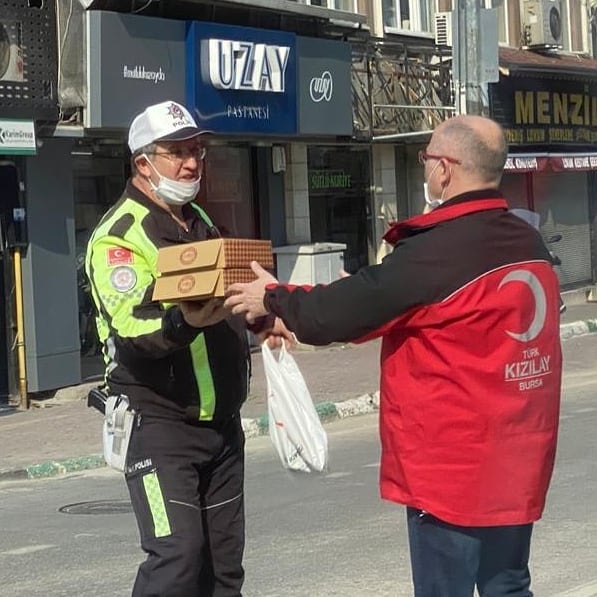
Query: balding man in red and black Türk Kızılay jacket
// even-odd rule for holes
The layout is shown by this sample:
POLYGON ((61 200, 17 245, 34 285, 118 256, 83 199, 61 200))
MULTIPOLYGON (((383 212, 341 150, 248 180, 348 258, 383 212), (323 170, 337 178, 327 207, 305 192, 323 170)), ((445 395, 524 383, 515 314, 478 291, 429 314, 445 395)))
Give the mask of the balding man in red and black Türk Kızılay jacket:
POLYGON ((407 507, 416 597, 529 596, 531 532, 558 431, 559 287, 539 233, 498 188, 498 124, 458 116, 419 159, 426 213, 379 265, 289 287, 255 265, 226 305, 310 344, 381 336, 380 487, 407 507))

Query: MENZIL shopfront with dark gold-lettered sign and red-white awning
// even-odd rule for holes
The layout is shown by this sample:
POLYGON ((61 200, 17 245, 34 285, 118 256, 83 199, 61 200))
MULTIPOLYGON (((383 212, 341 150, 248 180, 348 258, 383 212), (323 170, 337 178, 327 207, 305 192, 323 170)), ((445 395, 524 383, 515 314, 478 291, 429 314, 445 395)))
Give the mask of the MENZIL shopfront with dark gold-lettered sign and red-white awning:
POLYGON ((513 207, 540 215, 564 288, 595 280, 597 60, 502 49, 500 81, 490 85, 492 116, 510 145, 502 183, 513 207))

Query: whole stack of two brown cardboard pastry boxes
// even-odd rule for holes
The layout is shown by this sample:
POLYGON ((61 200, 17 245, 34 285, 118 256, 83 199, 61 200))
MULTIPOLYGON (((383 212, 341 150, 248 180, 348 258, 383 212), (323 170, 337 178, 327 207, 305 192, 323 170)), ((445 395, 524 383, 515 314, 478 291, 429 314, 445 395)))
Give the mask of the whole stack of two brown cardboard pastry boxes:
POLYGON ((269 240, 215 238, 159 250, 153 300, 175 302, 223 297, 230 284, 251 282, 251 261, 273 269, 269 240))

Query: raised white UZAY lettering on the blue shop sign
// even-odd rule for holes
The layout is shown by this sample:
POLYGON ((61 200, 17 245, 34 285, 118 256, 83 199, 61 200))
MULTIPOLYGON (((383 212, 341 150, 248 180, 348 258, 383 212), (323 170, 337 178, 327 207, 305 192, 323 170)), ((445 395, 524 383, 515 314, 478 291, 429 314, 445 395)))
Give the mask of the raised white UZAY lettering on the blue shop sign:
POLYGON ((209 39, 209 80, 218 89, 284 93, 290 48, 209 39))

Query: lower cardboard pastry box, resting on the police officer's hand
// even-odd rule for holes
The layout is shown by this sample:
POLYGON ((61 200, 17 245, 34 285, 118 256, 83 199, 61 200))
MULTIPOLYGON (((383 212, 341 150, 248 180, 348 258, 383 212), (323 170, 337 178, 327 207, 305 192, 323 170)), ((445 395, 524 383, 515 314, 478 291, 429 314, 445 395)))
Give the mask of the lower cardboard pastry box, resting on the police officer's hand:
POLYGON ((153 289, 153 300, 164 302, 207 300, 223 297, 230 284, 252 282, 251 269, 212 269, 160 276, 153 289))

